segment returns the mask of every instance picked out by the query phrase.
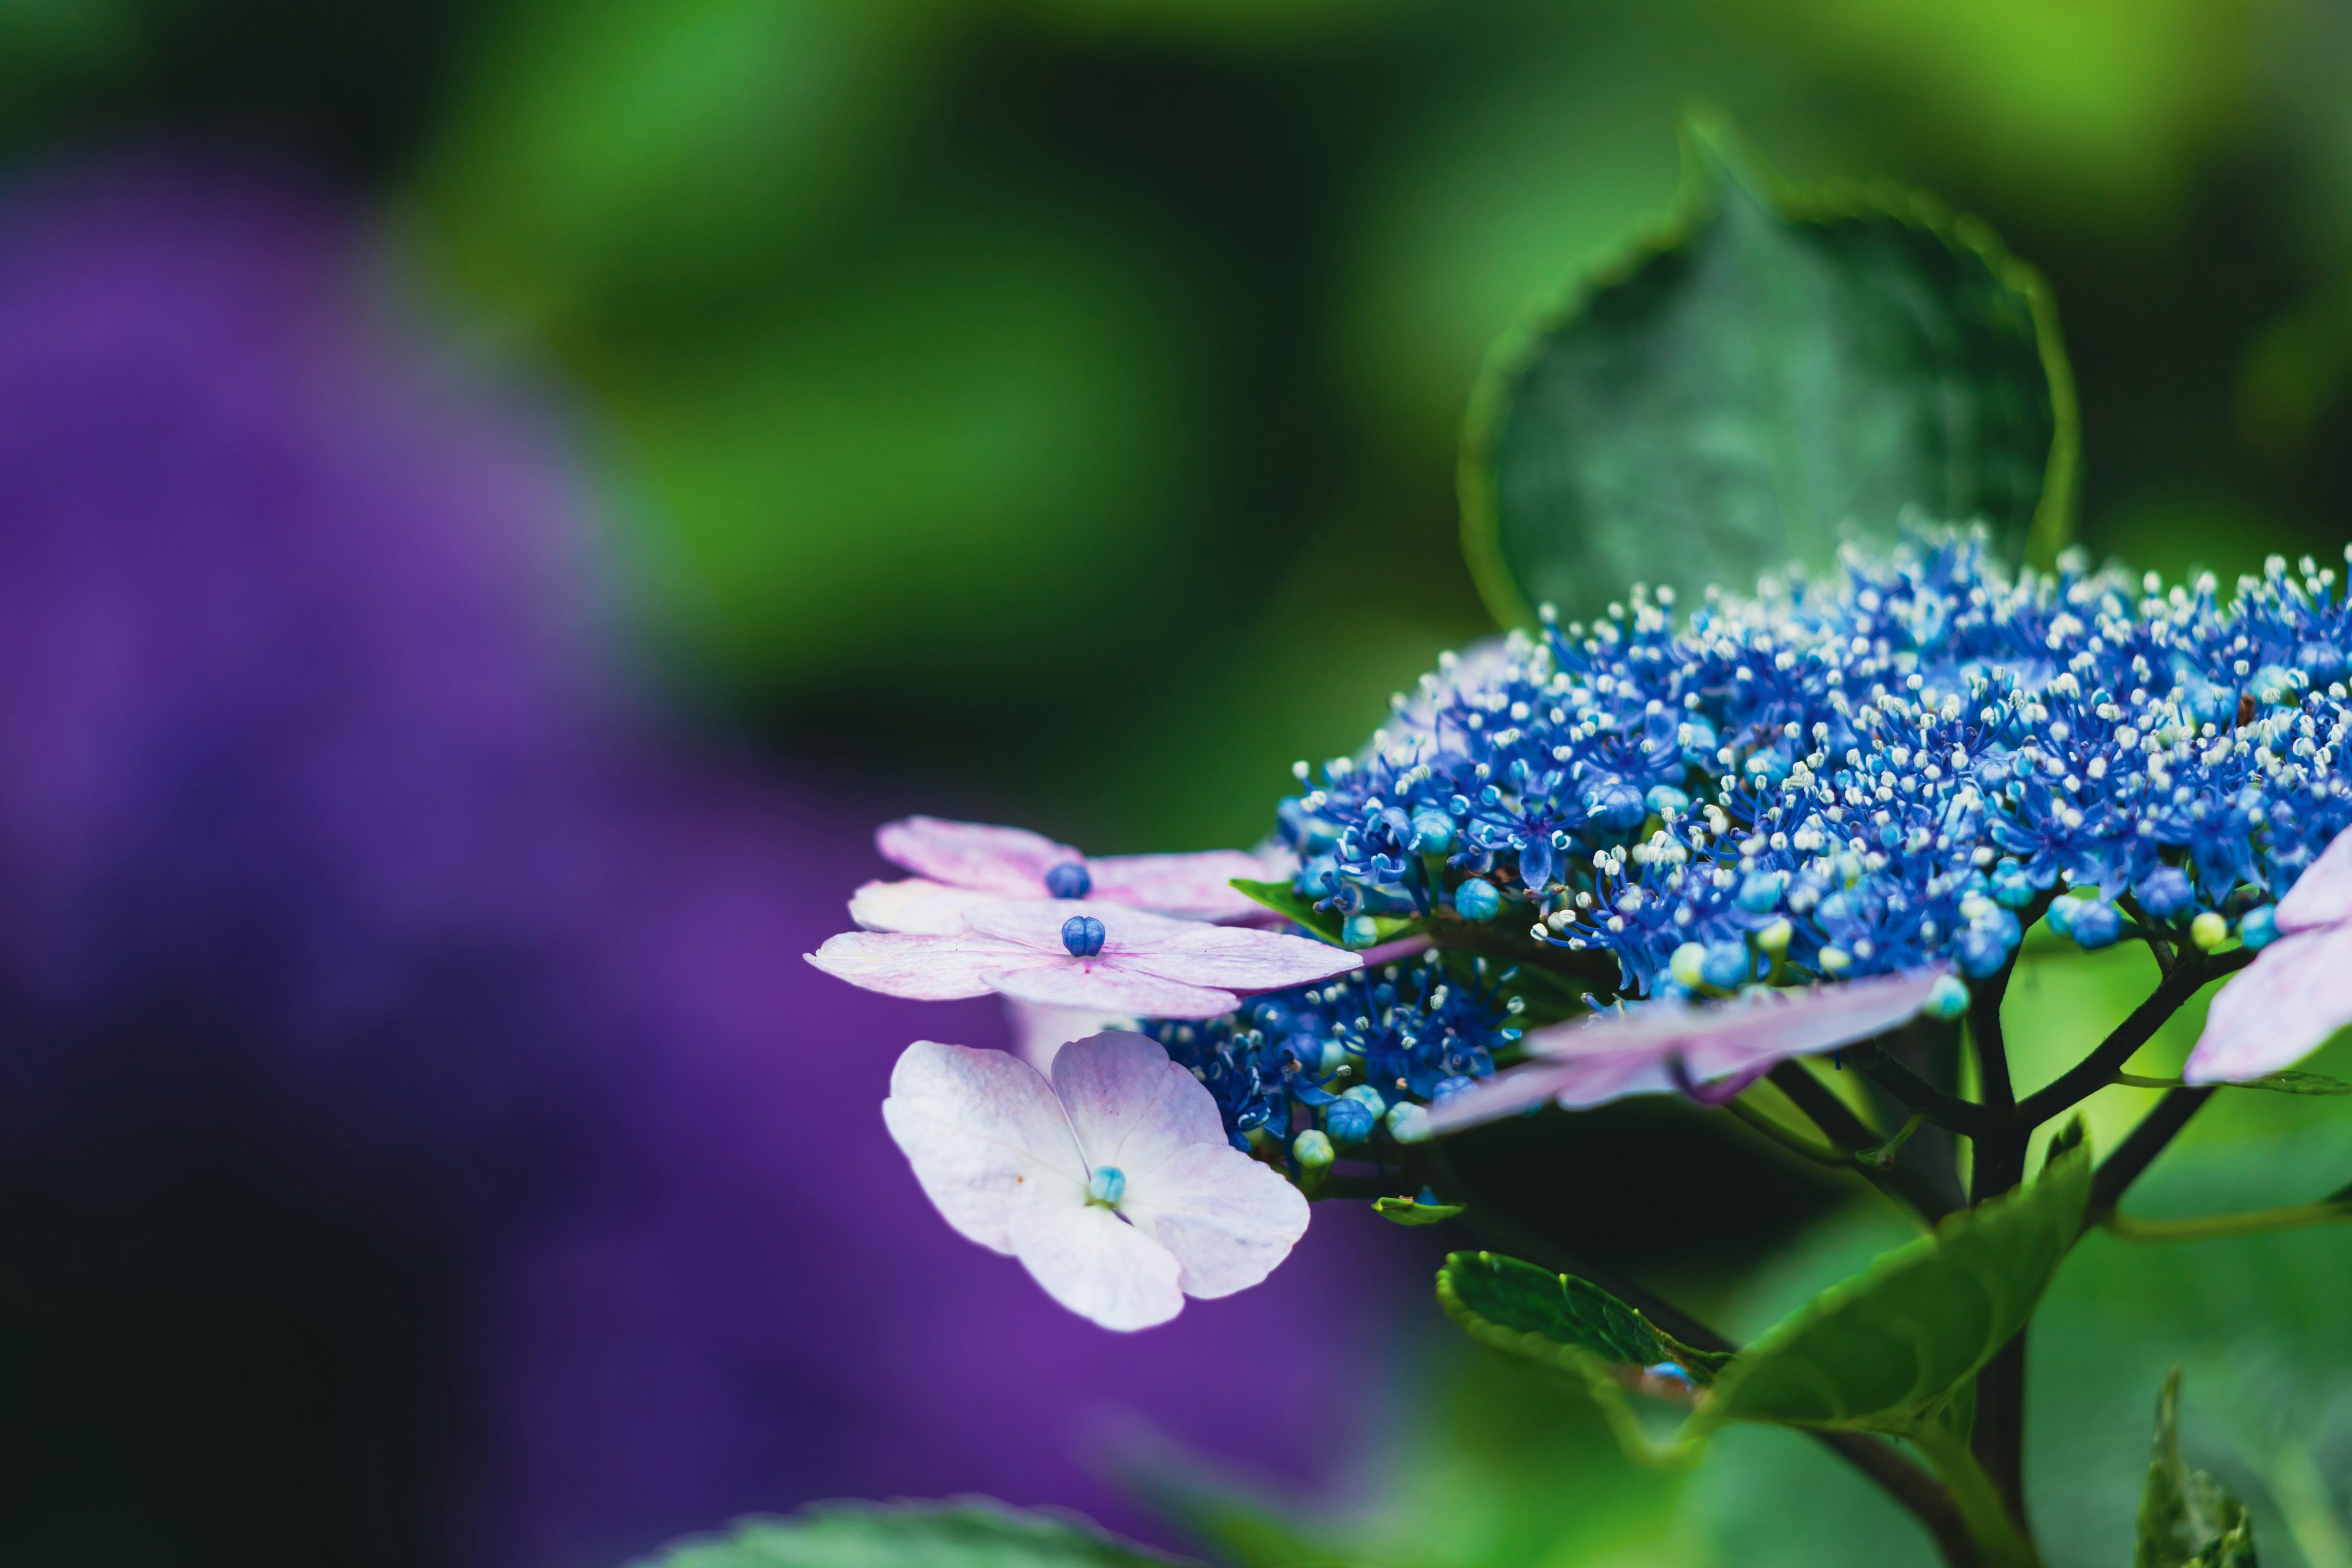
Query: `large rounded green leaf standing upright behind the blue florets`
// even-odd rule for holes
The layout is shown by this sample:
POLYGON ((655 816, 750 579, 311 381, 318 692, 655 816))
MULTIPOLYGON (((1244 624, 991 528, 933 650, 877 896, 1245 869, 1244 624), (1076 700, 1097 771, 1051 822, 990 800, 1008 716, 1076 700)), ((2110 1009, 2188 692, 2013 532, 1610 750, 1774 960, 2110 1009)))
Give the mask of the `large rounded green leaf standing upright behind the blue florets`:
POLYGON ((2039 275, 1898 186, 1776 188, 1722 125, 1684 127, 1684 167, 1670 226, 1479 381, 1461 491, 1489 609, 1696 599, 1912 510, 2053 555, 2077 428, 2039 275))

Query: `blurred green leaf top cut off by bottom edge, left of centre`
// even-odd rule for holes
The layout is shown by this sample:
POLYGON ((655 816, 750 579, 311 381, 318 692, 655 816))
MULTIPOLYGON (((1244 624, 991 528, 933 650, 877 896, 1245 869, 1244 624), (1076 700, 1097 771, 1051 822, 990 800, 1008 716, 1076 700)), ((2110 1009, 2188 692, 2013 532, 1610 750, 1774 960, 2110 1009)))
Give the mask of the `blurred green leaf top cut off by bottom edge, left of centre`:
POLYGON ((666 1547, 642 1568, 1167 1568, 1075 1514, 955 1502, 826 1502, 666 1547))

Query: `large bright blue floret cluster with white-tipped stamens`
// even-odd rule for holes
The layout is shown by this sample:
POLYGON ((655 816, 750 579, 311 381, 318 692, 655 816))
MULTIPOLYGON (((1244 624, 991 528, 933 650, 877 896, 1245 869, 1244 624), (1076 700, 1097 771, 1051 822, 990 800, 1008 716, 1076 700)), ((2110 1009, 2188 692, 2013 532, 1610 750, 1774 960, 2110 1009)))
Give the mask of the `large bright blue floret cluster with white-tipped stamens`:
MULTIPOLYGON (((2044 912, 2260 945, 2352 823, 2338 574, 2009 574, 1973 536, 1755 597, 1628 595, 1444 658, 1282 806, 1296 891, 1444 940, 1526 922, 1672 997, 1952 961, 2044 912)), ((1301 764, 1303 785, 1312 771, 1301 764)), ((1362 922, 1369 924, 1369 922, 1362 922)))

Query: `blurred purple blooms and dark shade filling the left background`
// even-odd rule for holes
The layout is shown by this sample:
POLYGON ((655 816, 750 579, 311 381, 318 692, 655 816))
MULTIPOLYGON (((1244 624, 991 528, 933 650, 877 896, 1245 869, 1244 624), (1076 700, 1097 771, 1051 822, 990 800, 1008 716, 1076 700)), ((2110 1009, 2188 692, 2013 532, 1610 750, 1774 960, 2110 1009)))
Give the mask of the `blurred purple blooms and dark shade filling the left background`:
POLYGON ((957 1490, 1152 1530, 1136 1418, 1327 1472, 1418 1253, 1319 1211, 1120 1338, 953 1237, 877 1105, 1000 1016, 800 961, 938 802, 661 717, 564 421, 433 343, 299 181, 0 205, 12 1540, 590 1566, 957 1490))

